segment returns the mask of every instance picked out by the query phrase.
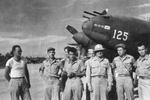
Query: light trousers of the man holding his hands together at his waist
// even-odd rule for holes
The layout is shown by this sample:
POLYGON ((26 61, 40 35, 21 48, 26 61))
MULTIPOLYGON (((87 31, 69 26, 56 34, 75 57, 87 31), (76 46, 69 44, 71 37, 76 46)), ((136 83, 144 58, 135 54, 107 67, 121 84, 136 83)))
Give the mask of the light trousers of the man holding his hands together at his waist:
POLYGON ((81 100, 83 85, 79 77, 67 79, 63 100, 81 100))

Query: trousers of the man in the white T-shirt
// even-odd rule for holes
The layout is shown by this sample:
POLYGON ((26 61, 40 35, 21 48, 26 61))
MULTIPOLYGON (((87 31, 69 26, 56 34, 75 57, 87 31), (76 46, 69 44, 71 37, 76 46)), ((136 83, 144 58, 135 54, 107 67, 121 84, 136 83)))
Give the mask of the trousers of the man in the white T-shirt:
POLYGON ((25 78, 11 79, 9 82, 9 90, 11 95, 11 100, 31 100, 29 88, 25 78))

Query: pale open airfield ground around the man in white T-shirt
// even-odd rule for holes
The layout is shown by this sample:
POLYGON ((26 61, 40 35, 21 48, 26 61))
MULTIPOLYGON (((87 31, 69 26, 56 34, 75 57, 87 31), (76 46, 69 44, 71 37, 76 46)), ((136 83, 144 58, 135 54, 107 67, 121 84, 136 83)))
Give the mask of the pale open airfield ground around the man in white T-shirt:
MULTIPOLYGON (((30 93, 32 100, 44 100, 43 80, 38 72, 40 66, 41 64, 28 64, 31 81, 30 93)), ((8 87, 9 83, 4 78, 4 69, 0 69, 0 100, 11 100, 8 87)), ((139 99, 136 98, 135 100, 139 99)))

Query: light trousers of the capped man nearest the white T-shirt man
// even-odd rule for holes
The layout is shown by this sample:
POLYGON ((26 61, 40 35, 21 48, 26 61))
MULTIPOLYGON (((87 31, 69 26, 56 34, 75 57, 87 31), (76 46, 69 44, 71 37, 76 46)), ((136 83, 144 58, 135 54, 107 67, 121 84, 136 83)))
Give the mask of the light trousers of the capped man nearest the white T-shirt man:
POLYGON ((45 100, 60 100, 59 79, 47 78, 45 80, 45 100))

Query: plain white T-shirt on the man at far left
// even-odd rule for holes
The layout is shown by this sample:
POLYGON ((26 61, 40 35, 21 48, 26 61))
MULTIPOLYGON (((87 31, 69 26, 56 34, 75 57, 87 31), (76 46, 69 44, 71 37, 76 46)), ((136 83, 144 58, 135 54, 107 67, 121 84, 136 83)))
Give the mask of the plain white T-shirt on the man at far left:
POLYGON ((25 59, 21 58, 20 61, 16 61, 13 57, 6 62, 6 66, 11 68, 10 77, 24 77, 25 76, 25 59))

